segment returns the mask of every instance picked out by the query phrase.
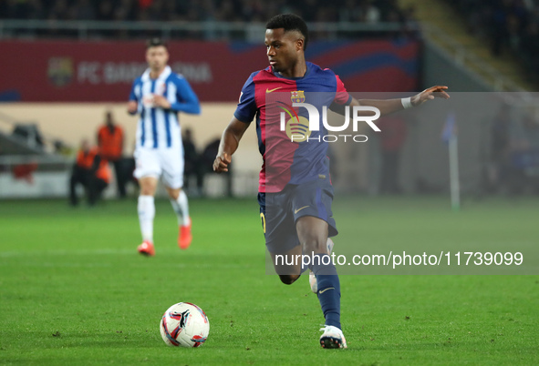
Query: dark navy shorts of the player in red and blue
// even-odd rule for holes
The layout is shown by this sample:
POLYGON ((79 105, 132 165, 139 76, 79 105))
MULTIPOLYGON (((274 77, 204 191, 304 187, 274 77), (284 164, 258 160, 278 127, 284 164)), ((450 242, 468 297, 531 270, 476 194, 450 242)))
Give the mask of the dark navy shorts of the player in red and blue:
POLYGON ((331 202, 333 187, 329 178, 300 185, 287 185, 278 193, 258 193, 260 218, 265 245, 271 253, 283 253, 299 245, 295 221, 304 216, 323 219, 328 225, 328 236, 337 235, 331 202))

